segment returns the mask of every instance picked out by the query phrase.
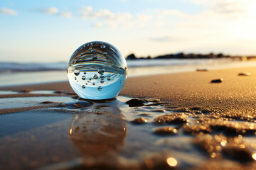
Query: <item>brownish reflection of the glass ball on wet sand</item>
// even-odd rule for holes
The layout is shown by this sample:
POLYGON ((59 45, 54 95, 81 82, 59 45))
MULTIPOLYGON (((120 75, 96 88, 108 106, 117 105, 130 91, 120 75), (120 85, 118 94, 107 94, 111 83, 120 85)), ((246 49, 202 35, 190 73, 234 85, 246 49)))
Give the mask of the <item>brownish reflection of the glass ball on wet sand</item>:
POLYGON ((126 131, 117 102, 95 103, 94 108, 74 116, 70 137, 83 157, 106 156, 121 149, 126 131))

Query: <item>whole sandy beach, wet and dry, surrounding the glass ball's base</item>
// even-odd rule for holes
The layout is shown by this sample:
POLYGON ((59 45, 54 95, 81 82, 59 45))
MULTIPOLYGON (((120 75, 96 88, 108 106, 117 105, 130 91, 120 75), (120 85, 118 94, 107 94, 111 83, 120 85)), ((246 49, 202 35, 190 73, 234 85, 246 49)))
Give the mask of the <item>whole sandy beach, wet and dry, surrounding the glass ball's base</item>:
POLYGON ((0 95, 2 103, 21 102, 1 108, 2 120, 20 114, 27 121, 17 125, 29 126, 33 118, 41 125, 18 130, 8 121, 1 124, 9 130, 0 134, 0 168, 256 168, 255 75, 255 67, 245 67, 132 77, 118 100, 104 102, 75 101, 66 81, 2 87, 23 91, 0 95), (42 99, 23 107, 31 97, 42 99), (36 120, 47 113, 48 119, 36 120))

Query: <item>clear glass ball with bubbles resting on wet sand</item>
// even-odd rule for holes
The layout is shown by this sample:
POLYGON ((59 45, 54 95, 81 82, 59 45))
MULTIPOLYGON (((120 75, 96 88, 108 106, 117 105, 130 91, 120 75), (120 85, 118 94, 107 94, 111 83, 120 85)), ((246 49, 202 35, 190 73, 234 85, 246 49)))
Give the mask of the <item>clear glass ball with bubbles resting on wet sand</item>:
POLYGON ((126 79, 126 60, 107 42, 93 41, 81 45, 68 62, 68 80, 80 98, 114 98, 126 79))

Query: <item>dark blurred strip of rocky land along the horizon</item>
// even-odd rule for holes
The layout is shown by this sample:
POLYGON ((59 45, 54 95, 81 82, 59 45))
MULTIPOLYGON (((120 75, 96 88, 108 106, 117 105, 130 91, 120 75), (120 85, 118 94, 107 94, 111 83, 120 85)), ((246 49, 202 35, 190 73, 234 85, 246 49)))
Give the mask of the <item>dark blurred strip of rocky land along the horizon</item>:
POLYGON ((144 59, 144 60, 151 60, 151 59, 211 59, 211 58, 232 58, 237 60, 255 60, 256 56, 231 56, 231 55, 223 55, 222 53, 219 54, 186 54, 183 52, 179 52, 176 54, 169 54, 169 55, 159 55, 156 57, 136 57, 134 54, 128 55, 127 60, 137 60, 137 59, 144 59))

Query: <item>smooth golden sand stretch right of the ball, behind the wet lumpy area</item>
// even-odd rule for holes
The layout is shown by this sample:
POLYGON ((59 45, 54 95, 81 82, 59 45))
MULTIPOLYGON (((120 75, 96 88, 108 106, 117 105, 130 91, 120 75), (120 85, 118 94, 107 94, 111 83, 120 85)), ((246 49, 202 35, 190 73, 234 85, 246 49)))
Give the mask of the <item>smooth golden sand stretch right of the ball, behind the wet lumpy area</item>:
POLYGON ((127 79, 120 95, 160 98, 173 106, 188 109, 255 113, 256 67, 134 77, 127 79), (239 76, 241 72, 252 75, 239 76), (210 83, 220 78, 223 79, 221 83, 210 83))

